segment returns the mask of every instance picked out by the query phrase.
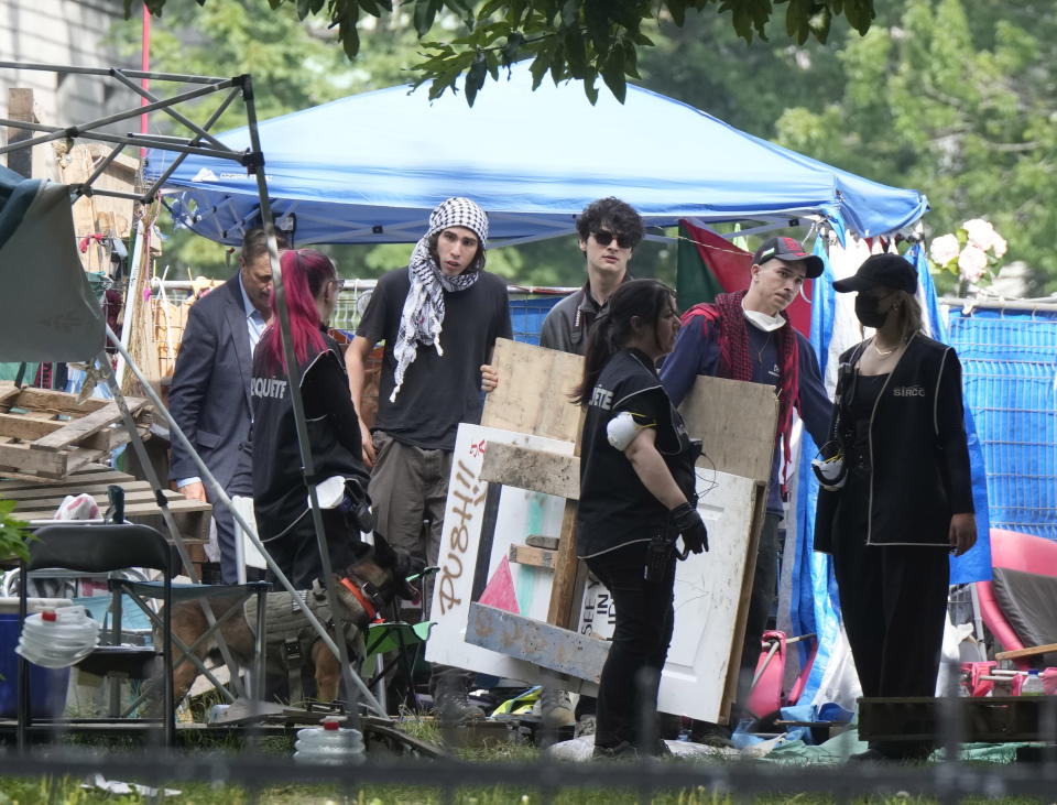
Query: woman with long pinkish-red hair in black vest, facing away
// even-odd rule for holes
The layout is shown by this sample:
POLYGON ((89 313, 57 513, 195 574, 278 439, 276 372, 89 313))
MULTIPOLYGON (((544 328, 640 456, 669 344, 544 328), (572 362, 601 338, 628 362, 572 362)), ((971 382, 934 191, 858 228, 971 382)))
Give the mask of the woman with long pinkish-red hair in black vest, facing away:
MULTIPOLYGON (((367 489, 368 471, 361 458, 360 426, 349 399, 345 362, 325 323, 337 304, 341 281, 326 254, 312 249, 282 254, 283 287, 290 311, 294 356, 301 370, 301 394, 308 439, 320 480, 341 476, 367 489)), ((322 578, 319 548, 308 510, 308 488, 302 471, 293 403, 286 382, 286 361, 275 323, 261 336, 253 353, 253 509, 258 533, 272 558, 297 589, 322 578)), ((367 501, 366 491, 360 500, 367 501)), ((355 510, 324 509, 324 526, 335 569, 356 559, 360 529, 355 510)))

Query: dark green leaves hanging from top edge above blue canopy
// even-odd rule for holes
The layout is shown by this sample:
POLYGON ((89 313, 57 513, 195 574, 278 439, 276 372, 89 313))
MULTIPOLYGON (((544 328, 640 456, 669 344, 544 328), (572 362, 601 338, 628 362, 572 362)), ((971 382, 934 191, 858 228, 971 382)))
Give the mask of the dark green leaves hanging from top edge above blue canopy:
MULTIPOLYGON (((175 0, 145 0, 161 14, 175 0)), ((216 0, 214 0, 216 2, 216 0)), ((197 0, 206 7, 207 0, 197 0)), ((126 14, 138 3, 124 0, 126 14)), ((301 20, 325 20, 349 58, 360 53, 364 18, 393 13, 392 0, 269 0, 273 11, 293 7, 301 20)), ((502 67, 532 58, 535 86, 549 77, 577 79, 593 104, 598 79, 623 100, 628 78, 640 78, 641 48, 654 44, 646 30, 663 20, 683 26, 690 17, 729 14, 729 24, 745 42, 766 39, 780 6, 785 7, 785 34, 798 44, 825 42, 835 19, 843 18, 865 33, 874 18, 873 0, 407 0, 397 10, 410 14, 423 57, 414 67, 415 85, 429 83, 431 97, 457 89, 464 78, 471 106, 489 76, 502 67), (462 23, 458 35, 434 39, 443 14, 462 23)), ((446 32, 450 33, 450 32, 446 32)))

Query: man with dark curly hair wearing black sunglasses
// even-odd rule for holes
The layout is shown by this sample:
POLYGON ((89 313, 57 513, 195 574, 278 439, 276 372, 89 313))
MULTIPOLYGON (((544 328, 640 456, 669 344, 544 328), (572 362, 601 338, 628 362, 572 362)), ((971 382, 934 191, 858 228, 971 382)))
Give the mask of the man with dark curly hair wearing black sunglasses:
POLYGON ((629 279, 628 263, 642 240, 642 218, 619 198, 599 198, 576 219, 587 282, 565 297, 543 322, 540 346, 584 355, 587 336, 606 302, 629 279))

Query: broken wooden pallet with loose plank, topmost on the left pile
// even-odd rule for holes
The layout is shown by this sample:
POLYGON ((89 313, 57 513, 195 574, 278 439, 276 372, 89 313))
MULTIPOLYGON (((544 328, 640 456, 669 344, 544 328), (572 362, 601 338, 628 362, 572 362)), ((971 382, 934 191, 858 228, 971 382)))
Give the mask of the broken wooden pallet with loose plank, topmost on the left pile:
MULTIPOLYGON (((141 433, 150 427, 146 400, 126 398, 141 433)), ((106 457, 131 435, 111 400, 0 382, 0 476, 61 481, 106 457)))

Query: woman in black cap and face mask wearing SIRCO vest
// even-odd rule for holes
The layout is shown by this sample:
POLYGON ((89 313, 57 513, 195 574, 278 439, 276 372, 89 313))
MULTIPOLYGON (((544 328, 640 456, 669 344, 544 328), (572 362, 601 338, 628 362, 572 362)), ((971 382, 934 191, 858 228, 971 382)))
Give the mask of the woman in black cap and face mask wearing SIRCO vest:
MULTIPOLYGON (((917 274, 898 254, 868 258, 833 289, 858 291, 856 315, 876 331, 840 357, 830 449, 843 464, 820 477, 815 550, 833 557, 863 696, 933 696, 948 554, 977 539, 961 365, 922 333, 917 274)), ((930 751, 927 742, 871 742, 853 758, 930 751)))

